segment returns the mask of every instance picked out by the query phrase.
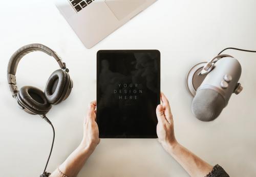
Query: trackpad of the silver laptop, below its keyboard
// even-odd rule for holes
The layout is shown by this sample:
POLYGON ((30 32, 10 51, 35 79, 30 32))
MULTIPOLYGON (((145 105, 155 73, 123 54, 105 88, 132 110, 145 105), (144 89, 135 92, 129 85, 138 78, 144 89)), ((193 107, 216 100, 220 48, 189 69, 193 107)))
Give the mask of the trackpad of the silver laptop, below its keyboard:
POLYGON ((121 20, 143 5, 146 0, 106 0, 105 2, 115 16, 121 20))

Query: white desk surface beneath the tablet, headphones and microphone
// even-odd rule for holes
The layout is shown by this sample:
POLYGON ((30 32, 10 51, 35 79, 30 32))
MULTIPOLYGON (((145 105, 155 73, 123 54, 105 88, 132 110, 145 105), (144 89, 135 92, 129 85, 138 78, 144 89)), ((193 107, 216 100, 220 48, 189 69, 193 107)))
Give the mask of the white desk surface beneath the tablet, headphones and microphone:
MULTIPOLYGON (((159 49, 161 88, 170 99, 178 141, 230 176, 256 176, 256 54, 228 51, 242 65, 244 91, 232 95, 221 116, 201 122, 190 111, 185 86, 191 66, 215 57, 229 46, 256 49, 256 1, 159 0, 92 49, 85 48, 53 1, 5 1, 0 7, 0 164, 1 176, 39 176, 52 141, 50 126, 16 106, 7 84, 10 56, 19 47, 42 43, 67 63, 74 88, 48 117, 56 141, 48 171, 79 144, 88 103, 96 98, 99 49, 159 49)), ((19 87, 44 90, 58 69, 51 57, 32 53, 17 70, 19 87)), ((78 175, 90 177, 188 176, 156 139, 102 139, 78 175)))

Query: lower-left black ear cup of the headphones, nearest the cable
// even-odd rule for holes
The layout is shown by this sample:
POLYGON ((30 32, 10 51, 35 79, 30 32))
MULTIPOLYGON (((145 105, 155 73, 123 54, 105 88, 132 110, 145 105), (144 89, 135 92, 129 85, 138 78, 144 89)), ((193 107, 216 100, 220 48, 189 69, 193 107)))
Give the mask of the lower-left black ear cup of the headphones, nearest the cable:
POLYGON ((45 93, 36 87, 24 86, 20 88, 17 99, 19 103, 35 114, 46 114, 52 108, 52 105, 47 102, 45 93))

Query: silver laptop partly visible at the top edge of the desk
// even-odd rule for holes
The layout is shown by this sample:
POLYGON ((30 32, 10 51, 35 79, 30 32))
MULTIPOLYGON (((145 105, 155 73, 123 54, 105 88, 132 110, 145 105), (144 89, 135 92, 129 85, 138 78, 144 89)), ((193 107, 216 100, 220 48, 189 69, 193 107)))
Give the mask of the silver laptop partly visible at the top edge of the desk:
POLYGON ((55 0, 82 43, 91 48, 157 0, 55 0))

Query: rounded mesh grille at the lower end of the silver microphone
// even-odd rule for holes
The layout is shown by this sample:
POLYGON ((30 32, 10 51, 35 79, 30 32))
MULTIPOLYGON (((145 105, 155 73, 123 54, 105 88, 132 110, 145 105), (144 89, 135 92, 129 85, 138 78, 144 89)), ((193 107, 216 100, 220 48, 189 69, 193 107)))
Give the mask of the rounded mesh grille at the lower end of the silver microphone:
POLYGON ((201 89, 197 90, 193 99, 192 112, 199 120, 211 121, 220 115, 225 106, 225 99, 216 90, 201 89))

